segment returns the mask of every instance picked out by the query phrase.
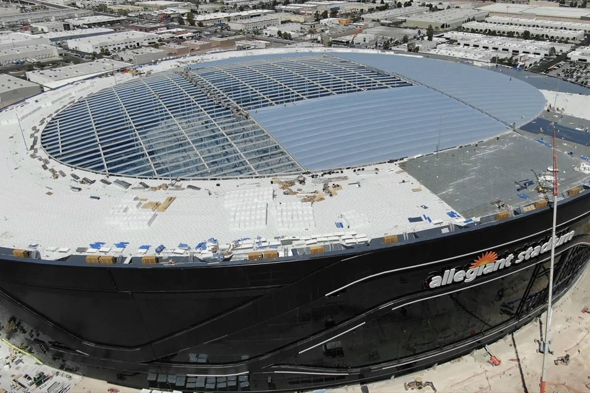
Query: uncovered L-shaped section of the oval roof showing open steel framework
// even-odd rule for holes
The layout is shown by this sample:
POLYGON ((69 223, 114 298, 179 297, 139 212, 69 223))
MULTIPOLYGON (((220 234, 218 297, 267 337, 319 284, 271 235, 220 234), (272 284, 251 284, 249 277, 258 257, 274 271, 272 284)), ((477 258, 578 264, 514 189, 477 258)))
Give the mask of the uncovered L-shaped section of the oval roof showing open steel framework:
POLYGON ((47 124, 41 143, 57 160, 109 174, 197 179, 300 172, 248 110, 409 85, 323 55, 190 67, 78 101, 47 124))

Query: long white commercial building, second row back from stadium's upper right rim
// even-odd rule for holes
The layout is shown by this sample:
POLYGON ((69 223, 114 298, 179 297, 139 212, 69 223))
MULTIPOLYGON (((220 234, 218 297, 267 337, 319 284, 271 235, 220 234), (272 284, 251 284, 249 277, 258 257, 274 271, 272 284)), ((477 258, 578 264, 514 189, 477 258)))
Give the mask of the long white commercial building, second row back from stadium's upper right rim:
POLYGON ((467 33, 463 31, 450 31, 444 34, 445 38, 457 41, 463 47, 491 49, 493 51, 507 52, 510 54, 532 54, 548 56, 551 48, 556 53, 566 53, 572 50, 571 44, 559 42, 533 41, 530 39, 490 37, 483 34, 467 33))

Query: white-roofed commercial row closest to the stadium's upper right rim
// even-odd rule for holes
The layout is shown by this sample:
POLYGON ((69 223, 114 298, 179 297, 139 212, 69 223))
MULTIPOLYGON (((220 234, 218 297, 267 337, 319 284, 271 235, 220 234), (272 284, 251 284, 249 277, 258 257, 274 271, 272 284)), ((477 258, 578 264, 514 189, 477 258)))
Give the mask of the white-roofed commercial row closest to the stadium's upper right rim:
POLYGON ((518 61, 518 65, 528 68, 531 65, 537 64, 541 61, 543 56, 532 54, 516 54, 506 53, 503 51, 494 51, 491 49, 481 49, 473 47, 461 47, 460 45, 440 44, 436 48, 428 49, 427 53, 461 58, 479 62, 493 62, 496 58, 513 57, 518 61))

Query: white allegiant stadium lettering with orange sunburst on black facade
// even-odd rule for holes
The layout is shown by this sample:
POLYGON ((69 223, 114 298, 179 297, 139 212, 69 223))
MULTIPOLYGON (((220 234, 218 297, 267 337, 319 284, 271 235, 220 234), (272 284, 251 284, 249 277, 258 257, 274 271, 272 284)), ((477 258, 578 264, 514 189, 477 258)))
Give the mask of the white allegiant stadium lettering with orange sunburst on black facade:
MULTIPOLYGON (((559 237, 555 236, 555 238, 553 238, 553 241, 556 242, 555 247, 559 247, 564 243, 569 242, 569 240, 572 240, 574 233, 575 231, 572 230, 559 237)), ((454 282, 471 282, 481 275, 505 269, 513 264, 518 265, 520 262, 523 262, 523 260, 529 260, 530 258, 539 256, 550 250, 551 239, 545 243, 530 246, 528 249, 519 252, 517 255, 511 253, 502 259, 498 259, 498 254, 496 252, 488 251, 481 254, 477 259, 474 259, 468 269, 447 269, 442 273, 442 276, 431 277, 428 280, 428 287, 438 288, 439 286, 449 285, 454 282)))

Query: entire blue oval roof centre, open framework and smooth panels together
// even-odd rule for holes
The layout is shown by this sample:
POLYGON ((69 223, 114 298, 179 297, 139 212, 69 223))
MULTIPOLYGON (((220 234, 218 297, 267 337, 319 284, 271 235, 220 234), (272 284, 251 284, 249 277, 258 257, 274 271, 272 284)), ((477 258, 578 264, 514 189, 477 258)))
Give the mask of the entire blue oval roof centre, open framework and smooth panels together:
POLYGON ((428 153, 439 124, 440 148, 470 143, 544 103, 525 82, 450 62, 267 55, 101 91, 55 115, 41 142, 55 159, 101 173, 261 176, 428 153))

